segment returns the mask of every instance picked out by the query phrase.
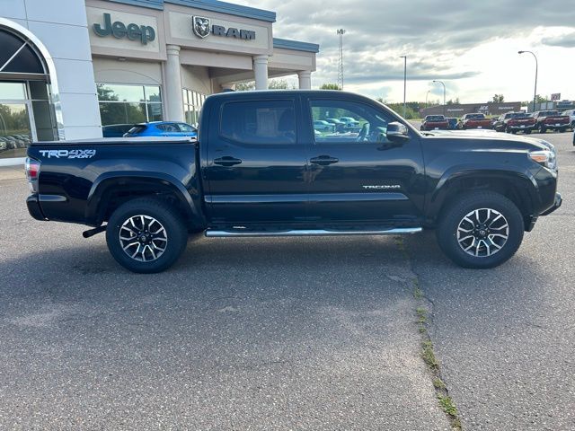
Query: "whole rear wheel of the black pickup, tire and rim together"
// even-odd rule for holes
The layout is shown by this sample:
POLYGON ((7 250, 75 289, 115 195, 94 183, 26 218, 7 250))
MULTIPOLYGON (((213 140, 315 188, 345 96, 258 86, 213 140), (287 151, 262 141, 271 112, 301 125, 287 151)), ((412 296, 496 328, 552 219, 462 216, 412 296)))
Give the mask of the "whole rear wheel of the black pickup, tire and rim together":
POLYGON ((170 268, 180 258, 188 242, 188 230, 180 214, 163 201, 136 198, 113 212, 106 228, 106 242, 122 267, 151 274, 170 268))

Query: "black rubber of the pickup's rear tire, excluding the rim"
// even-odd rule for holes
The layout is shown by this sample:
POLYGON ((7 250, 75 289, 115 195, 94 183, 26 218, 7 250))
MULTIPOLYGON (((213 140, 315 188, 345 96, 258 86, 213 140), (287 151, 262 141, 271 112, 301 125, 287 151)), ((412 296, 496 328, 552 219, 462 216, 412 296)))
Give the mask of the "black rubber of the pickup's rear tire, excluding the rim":
POLYGON ((121 205, 111 215, 106 228, 106 242, 111 255, 124 268, 132 272, 150 274, 164 271, 181 256, 188 239, 188 232, 181 221, 179 214, 173 211, 164 202, 155 198, 137 198, 121 205), (158 259, 149 262, 140 262, 132 259, 122 250, 119 242, 119 229, 131 216, 144 215, 154 217, 164 225, 168 243, 164 254, 158 259))

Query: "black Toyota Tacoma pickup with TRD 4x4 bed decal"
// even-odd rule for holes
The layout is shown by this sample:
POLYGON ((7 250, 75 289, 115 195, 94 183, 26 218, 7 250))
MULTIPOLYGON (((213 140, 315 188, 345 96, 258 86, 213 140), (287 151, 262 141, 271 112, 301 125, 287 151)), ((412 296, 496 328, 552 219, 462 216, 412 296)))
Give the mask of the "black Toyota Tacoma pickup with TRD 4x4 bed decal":
POLYGON ((208 97, 198 140, 34 143, 31 216, 106 232, 143 273, 170 267, 190 233, 208 237, 382 235, 435 228, 468 268, 509 259, 562 203, 553 145, 477 132, 420 133, 348 92, 208 97), (349 117, 360 130, 314 130, 349 117))

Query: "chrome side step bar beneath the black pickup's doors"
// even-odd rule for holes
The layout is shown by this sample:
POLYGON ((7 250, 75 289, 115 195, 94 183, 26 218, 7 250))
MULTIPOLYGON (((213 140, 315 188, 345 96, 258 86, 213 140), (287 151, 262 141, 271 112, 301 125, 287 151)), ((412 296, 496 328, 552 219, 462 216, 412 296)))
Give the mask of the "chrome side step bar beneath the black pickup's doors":
POLYGON ((213 231, 208 229, 206 236, 210 238, 223 238, 230 236, 351 236, 351 235, 405 235, 411 233, 420 233, 423 229, 420 227, 399 227, 396 229, 385 229, 375 231, 325 231, 318 230, 293 230, 293 231, 213 231))

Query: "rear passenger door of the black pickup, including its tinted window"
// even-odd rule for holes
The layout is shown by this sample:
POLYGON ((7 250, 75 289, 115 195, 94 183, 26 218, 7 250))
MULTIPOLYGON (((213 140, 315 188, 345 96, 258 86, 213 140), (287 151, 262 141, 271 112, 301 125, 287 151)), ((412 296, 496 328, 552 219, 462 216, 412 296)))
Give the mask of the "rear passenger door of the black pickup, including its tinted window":
MULTIPOLYGON (((286 224, 305 216, 305 144, 299 96, 255 93, 210 112, 208 217, 217 224, 286 224)), ((203 114, 202 114, 203 115, 203 114)), ((203 137, 200 137, 205 144, 203 137)))

